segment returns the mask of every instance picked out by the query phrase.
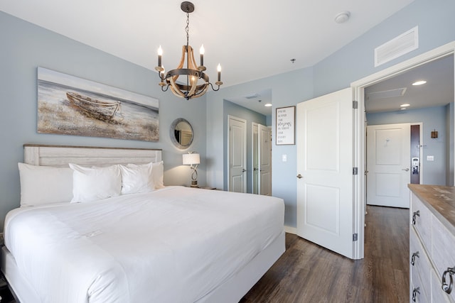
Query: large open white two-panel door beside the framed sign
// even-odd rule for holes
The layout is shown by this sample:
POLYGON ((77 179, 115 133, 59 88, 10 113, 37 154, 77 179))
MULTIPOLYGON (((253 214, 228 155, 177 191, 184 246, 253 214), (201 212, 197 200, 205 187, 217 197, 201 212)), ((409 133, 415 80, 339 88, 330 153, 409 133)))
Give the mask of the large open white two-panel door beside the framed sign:
POLYGON ((297 104, 297 235, 353 258, 350 88, 297 104))

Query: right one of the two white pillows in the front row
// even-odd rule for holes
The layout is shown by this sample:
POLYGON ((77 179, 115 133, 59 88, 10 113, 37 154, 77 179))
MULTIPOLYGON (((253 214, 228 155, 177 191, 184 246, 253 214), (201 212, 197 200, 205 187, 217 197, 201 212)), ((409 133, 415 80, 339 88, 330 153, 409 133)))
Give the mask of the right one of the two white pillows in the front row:
POLYGON ((122 194, 153 192, 152 163, 119 165, 122 172, 122 194))

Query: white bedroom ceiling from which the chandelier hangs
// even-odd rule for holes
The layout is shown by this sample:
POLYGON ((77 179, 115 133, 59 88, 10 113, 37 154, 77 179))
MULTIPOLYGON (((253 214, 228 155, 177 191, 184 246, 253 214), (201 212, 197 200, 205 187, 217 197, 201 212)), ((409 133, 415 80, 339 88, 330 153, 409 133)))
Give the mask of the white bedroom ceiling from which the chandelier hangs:
MULTIPOLYGON (((208 75, 214 79, 220 63, 223 86, 228 87, 313 66, 412 1, 193 0, 190 45, 196 54, 204 45, 208 75), (334 18, 341 11, 350 11, 350 19, 338 24, 334 18)), ((180 0, 30 0, 26 4, 2 0, 0 10, 149 70, 157 65, 156 50, 161 45, 163 65, 169 70, 180 61, 181 46, 186 44, 186 14, 180 4, 180 0)), ((158 85, 157 78, 150 79, 151 85, 158 85)), ((232 99, 238 97, 242 96, 232 99)), ((242 105, 250 107, 247 102, 242 105)), ((259 108, 253 106, 263 112, 263 106, 259 108)))

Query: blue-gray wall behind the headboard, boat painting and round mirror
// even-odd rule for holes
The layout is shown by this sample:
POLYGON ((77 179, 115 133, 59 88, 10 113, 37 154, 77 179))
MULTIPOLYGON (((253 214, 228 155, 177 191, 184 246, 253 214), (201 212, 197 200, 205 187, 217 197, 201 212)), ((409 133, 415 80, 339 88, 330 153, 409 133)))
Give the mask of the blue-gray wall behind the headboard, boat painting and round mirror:
POLYGON ((205 97, 184 101, 161 92, 155 72, 3 12, 0 41, 0 226, 6 212, 19 205, 17 163, 23 161, 24 143, 161 148, 165 184, 191 182, 191 170, 181 165, 181 154, 197 150, 202 162, 199 183, 205 184, 205 97), (37 133, 38 66, 159 99, 159 142, 37 133), (194 141, 188 150, 178 150, 169 138, 169 126, 176 118, 187 119, 193 126, 194 141))

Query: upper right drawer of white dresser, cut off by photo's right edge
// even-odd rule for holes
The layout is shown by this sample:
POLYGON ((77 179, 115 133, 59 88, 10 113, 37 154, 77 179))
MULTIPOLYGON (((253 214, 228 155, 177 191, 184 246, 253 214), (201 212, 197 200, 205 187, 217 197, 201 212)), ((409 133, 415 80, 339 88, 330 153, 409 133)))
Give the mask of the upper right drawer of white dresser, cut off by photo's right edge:
MULTIPOLYGON (((432 260, 436 265, 441 288, 442 275, 448 268, 455 268, 455 237, 449 233, 446 227, 438 220, 432 224, 432 260)), ((455 276, 452 277, 455 280, 455 276)), ((449 275, 446 275, 449 282, 449 275)), ((455 285, 451 292, 451 298, 455 301, 455 285)))

